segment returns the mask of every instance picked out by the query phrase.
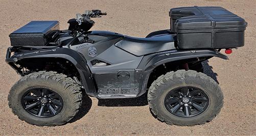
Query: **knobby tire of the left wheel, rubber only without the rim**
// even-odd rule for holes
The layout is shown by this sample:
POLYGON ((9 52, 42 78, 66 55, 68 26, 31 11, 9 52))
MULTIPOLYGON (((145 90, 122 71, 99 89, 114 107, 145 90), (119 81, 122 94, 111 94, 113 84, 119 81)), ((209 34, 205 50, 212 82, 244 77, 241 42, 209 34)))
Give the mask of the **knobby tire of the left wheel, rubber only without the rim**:
POLYGON ((55 126, 68 122, 78 113, 82 101, 82 92, 75 81, 64 74, 53 71, 39 71, 19 79, 11 88, 8 101, 12 112, 20 120, 37 126, 55 126), (63 100, 61 111, 55 116, 47 118, 36 117, 25 111, 21 104, 21 97, 24 96, 27 90, 33 88, 51 89, 57 93, 63 100))

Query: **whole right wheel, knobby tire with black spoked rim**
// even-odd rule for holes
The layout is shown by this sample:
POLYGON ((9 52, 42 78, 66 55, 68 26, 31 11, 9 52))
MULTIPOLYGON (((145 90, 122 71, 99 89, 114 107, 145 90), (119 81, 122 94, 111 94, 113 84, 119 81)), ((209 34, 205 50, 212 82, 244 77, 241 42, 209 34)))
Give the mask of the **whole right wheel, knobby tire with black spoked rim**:
POLYGON ((148 92, 151 112, 167 124, 204 124, 223 106, 223 94, 211 77, 193 70, 159 76, 148 92))

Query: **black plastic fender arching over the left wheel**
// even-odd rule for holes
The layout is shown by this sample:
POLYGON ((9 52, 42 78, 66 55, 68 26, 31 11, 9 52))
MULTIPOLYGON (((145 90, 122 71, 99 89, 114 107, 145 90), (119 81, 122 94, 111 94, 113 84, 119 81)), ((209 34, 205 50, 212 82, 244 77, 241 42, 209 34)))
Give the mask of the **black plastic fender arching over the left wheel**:
POLYGON ((72 62, 80 74, 86 94, 95 97, 96 89, 94 86, 94 80, 92 78, 91 71, 86 64, 86 60, 77 51, 68 48, 40 49, 15 53, 12 57, 11 52, 11 48, 8 48, 6 62, 16 72, 20 71, 14 63, 17 61, 22 61, 23 59, 62 58, 72 62))

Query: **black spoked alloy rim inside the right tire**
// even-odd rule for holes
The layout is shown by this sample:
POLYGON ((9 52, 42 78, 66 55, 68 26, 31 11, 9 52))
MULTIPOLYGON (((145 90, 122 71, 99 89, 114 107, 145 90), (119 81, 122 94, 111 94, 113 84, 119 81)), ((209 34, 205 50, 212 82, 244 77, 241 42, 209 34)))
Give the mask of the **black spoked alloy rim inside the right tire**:
POLYGON ((165 107, 171 114, 189 118, 203 113, 209 104, 208 96, 195 87, 171 90, 165 98, 165 107))

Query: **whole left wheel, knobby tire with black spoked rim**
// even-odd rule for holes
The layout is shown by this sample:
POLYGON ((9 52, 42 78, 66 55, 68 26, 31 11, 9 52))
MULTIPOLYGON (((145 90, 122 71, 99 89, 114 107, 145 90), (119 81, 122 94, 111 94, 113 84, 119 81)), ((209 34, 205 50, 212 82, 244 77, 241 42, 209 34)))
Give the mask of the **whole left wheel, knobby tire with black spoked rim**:
POLYGON ((18 80, 8 100, 19 119, 38 126, 55 126, 77 114, 82 92, 75 81, 64 74, 39 71, 18 80))

